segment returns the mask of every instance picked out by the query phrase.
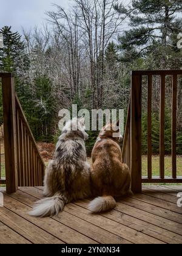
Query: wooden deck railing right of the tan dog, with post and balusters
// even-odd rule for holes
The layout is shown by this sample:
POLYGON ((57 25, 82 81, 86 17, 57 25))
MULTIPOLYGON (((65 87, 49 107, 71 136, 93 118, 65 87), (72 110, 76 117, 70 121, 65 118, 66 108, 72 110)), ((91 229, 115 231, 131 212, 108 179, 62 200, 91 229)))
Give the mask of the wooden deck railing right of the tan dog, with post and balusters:
POLYGON ((182 183, 177 177, 177 81, 182 70, 163 71, 132 71, 131 96, 127 115, 126 130, 123 144, 123 162, 130 167, 132 190, 141 191, 142 183, 182 183), (147 76, 147 177, 141 172, 141 115, 142 115, 142 79, 147 76), (152 177, 152 79, 160 76, 160 176, 152 177), (165 123, 165 87, 166 76, 172 76, 172 172, 171 177, 165 176, 164 154, 164 123, 165 123))

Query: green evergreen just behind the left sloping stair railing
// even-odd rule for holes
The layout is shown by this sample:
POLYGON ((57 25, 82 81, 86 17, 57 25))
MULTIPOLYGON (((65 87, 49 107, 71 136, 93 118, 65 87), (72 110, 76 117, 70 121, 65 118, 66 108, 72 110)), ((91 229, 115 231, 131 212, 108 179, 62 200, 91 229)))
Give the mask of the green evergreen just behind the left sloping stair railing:
POLYGON ((35 77, 34 83, 35 91, 25 113, 36 140, 52 141, 52 129, 58 118, 57 102, 52 96, 52 82, 47 76, 39 75, 35 77))

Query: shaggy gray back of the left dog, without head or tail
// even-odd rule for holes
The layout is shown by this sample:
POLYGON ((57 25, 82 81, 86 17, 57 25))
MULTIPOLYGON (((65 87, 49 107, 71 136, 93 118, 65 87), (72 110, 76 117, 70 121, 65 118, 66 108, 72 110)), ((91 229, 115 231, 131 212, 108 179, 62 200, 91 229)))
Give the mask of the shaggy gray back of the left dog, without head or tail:
POLYGON ((45 196, 51 196, 57 191, 69 192, 72 183, 83 170, 86 161, 86 149, 83 135, 79 132, 65 132, 59 137, 53 161, 46 170, 45 196), (51 193, 46 191, 49 189, 51 193))

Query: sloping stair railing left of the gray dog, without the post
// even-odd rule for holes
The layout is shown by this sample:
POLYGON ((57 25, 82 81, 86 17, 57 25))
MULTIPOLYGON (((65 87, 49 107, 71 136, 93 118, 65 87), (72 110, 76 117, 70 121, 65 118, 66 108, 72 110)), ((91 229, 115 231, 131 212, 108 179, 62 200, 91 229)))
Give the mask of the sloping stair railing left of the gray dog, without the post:
POLYGON ((41 187, 45 165, 17 96, 15 108, 18 187, 41 187))

